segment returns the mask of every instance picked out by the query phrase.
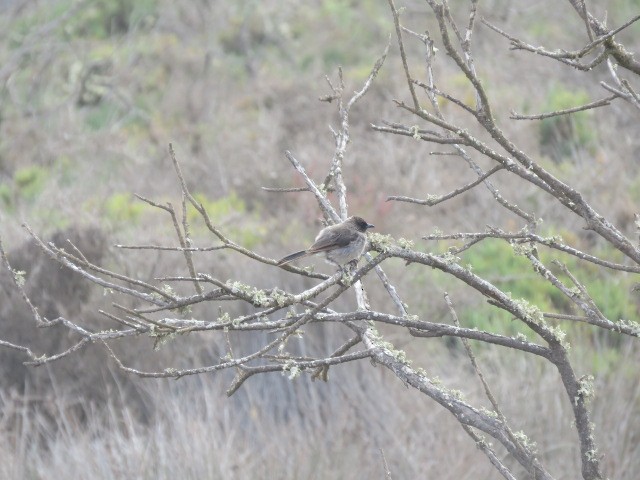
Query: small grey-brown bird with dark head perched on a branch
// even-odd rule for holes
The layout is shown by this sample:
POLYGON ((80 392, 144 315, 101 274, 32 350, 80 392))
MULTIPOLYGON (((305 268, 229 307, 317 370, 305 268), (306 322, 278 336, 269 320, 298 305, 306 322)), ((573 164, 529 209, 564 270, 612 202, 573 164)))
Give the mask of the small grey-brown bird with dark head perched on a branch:
POLYGON ((349 217, 341 223, 323 228, 313 245, 306 250, 287 255, 278 260, 279 267, 298 258, 324 253, 329 263, 342 268, 343 265, 360 258, 367 244, 365 232, 374 225, 362 217, 349 217))

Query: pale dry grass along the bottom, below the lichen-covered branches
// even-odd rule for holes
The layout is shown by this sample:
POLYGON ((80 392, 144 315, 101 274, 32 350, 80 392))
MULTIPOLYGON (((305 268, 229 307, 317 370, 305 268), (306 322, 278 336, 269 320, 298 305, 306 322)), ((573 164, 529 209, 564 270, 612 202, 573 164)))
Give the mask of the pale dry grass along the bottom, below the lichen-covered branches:
MULTIPOLYGON (((484 403, 460 352, 430 350, 424 359, 430 374, 447 385, 464 385, 473 403, 484 403)), ((640 359, 637 346, 627 347, 625 354, 625 363, 640 359)), ((556 478, 575 478, 575 433, 554 372, 510 352, 481 357, 514 427, 537 442, 556 478), (514 377, 519 379, 515 390, 514 377)), ((637 411, 639 392, 633 372, 618 367, 597 379, 594 422, 608 475, 632 480, 640 424, 631 412, 637 411)), ((221 376, 139 381, 137 388, 152 410, 144 423, 117 390, 105 404, 85 404, 85 422, 69 413, 73 401, 63 385, 47 413, 20 398, 3 397, 3 427, 11 421, 12 428, 3 428, 0 437, 0 475, 383 478, 383 449, 393 478, 499 478, 447 412, 368 364, 335 369, 327 384, 271 375, 252 380, 232 399, 223 394, 221 376)))

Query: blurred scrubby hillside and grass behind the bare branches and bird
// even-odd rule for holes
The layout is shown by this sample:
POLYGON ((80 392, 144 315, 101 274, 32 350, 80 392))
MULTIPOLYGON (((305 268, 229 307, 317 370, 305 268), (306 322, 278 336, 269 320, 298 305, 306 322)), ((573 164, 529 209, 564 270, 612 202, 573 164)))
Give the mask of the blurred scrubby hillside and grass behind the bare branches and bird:
MULTIPOLYGON (((480 4, 484 17, 532 44, 569 50, 586 43, 584 25, 564 2, 480 4)), ((464 18, 466 2, 451 5, 464 18)), ((406 25, 435 31, 422 2, 403 6, 406 25)), ((611 0, 594 8, 606 11, 608 24, 617 26, 637 14, 640 3, 611 0)), ((170 219, 133 196, 180 204, 169 143, 191 191, 234 241, 272 258, 312 241, 321 218, 315 200, 261 187, 302 185, 284 150, 311 176, 324 178, 334 150, 329 125, 338 121, 335 105, 318 101, 329 93, 325 75, 335 81, 342 66, 346 90, 359 89, 392 32, 387 2, 381 0, 0 2, 0 236, 14 267, 27 272, 28 292, 43 315, 108 328, 97 311, 116 300, 43 258, 23 222, 57 244, 71 239, 112 270, 148 279, 183 273, 176 253, 114 247, 176 243, 170 219)), ((640 25, 616 38, 640 51, 640 25)), ((614 102, 568 123, 508 119, 512 110, 540 113, 606 96, 598 83, 607 78, 605 67, 586 75, 510 51, 504 38, 480 24, 475 42, 476 67, 510 138, 636 238, 636 111, 614 102)), ((408 40, 407 47, 418 72, 421 44, 408 40)), ((471 95, 444 58, 439 78, 459 95, 471 95)), ((423 250, 446 248, 420 240, 436 228, 517 228, 481 190, 434 208, 386 202, 389 195, 442 194, 471 180, 462 166, 430 157, 430 146, 370 128, 400 120, 393 99, 407 97, 392 42, 372 90, 351 113, 344 168, 350 212, 381 233, 415 240, 423 250)), ((500 192, 534 209, 545 232, 597 251, 597 240, 550 199, 505 179, 496 176, 500 192)), ((193 218, 195 242, 213 244, 193 218)), ((564 308, 536 283, 526 261, 509 256, 508 246, 487 245, 465 258, 475 271, 533 302, 564 308)), ((613 252, 602 254, 615 259, 613 252)), ((250 267, 231 253, 197 259, 200 271, 226 272, 260 287, 310 285, 279 269, 250 267)), ((610 318, 637 319, 632 275, 574 267, 585 269, 581 273, 610 318)), ((448 291, 463 323, 516 333, 508 318, 495 316, 482 298, 465 295, 442 274, 401 262, 388 262, 385 270, 413 313, 450 323, 442 301, 448 291)), ((376 298, 379 286, 370 283, 376 298)), ((215 315, 214 308, 200 307, 194 315, 215 315)), ((317 327, 316 333, 304 348, 330 351, 341 343, 329 329, 317 327)), ((71 342, 61 331, 35 327, 6 272, 0 274, 0 334, 42 353, 71 342)), ((569 335, 578 370, 595 375, 593 420, 605 474, 635 479, 638 342, 579 325, 570 326, 569 335)), ((429 375, 464 387, 477 404, 486 404, 457 341, 388 340, 429 375)), ((210 364, 224 354, 218 340, 206 335, 153 347, 146 338, 118 348, 132 365, 153 370, 210 364)), ((537 442, 552 474, 576 478, 576 437, 557 373, 504 349, 478 355, 507 417, 537 442)), ((1 478, 383 478, 381 449, 394 479, 499 478, 448 413, 368 362, 332 369, 326 384, 279 374, 254 377, 227 399, 227 374, 142 380, 123 375, 98 347, 40 369, 22 366, 23 360, 0 350, 1 478)))

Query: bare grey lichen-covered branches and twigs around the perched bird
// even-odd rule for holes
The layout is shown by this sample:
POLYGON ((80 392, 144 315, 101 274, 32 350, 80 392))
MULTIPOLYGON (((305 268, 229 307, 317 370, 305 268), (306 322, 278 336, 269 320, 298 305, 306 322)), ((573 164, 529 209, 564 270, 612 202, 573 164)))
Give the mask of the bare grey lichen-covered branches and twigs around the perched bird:
MULTIPOLYGON (((590 296, 584 283, 569 271, 566 265, 558 262, 556 267, 570 281, 566 283, 566 280, 559 278, 548 265, 545 265, 540 260, 538 250, 549 249, 550 251, 561 252, 576 257, 581 261, 614 271, 639 273, 640 249, 637 244, 628 239, 612 223, 599 214, 580 192, 555 177, 536 162, 532 156, 520 150, 508 138, 496 122, 491 99, 476 73, 472 50, 474 31, 478 20, 480 20, 484 25, 507 38, 513 49, 542 55, 584 71, 589 71, 602 62, 606 62, 609 65, 614 86, 606 83, 603 83, 602 86, 611 92, 611 95, 601 100, 566 110, 528 116, 514 113, 512 118, 515 120, 539 120, 550 116, 569 115, 585 109, 602 108, 617 98, 628 101, 640 108, 638 94, 627 79, 620 78, 616 66, 619 65, 622 69, 633 74, 640 73, 640 69, 624 46, 615 41, 615 35, 637 21, 640 16, 634 17, 616 29, 608 30, 602 22, 599 22, 587 11, 584 2, 578 0, 569 1, 584 21, 588 35, 586 45, 577 51, 549 50, 544 47, 534 47, 513 35, 507 34, 501 28, 479 17, 477 0, 469 2, 469 15, 462 27, 454 20, 446 1, 427 0, 427 4, 437 21, 438 36, 433 36, 429 32, 416 33, 401 25, 401 12, 398 11, 393 0, 388 0, 410 97, 408 103, 398 100, 396 104, 404 114, 409 116, 410 121, 386 121, 380 125, 372 125, 372 128, 385 134, 411 137, 429 144, 443 145, 449 150, 446 152, 434 152, 434 155, 437 153, 440 156, 447 155, 460 159, 469 167, 474 176, 472 181, 466 182, 444 195, 428 195, 423 199, 393 195, 389 196, 388 199, 390 201, 433 206, 473 189, 484 187, 490 192, 497 205, 504 208, 509 215, 515 216, 521 222, 519 231, 507 232, 497 227, 488 226, 487 230, 483 232, 434 234, 423 237, 428 241, 462 240, 465 242, 462 246, 452 248, 442 255, 418 251, 413 248, 412 242, 404 239, 393 239, 389 236, 373 234, 370 236, 370 251, 365 255, 366 261, 361 262, 360 267, 352 271, 340 271, 328 276, 296 266, 286 265, 283 268, 291 274, 309 277, 317 280, 318 283, 299 293, 288 292, 279 288, 262 290, 252 285, 218 278, 213 274, 202 273, 198 270, 197 262, 194 258, 196 252, 207 251, 215 253, 221 250, 235 251, 268 268, 279 267, 277 267, 277 260, 262 256, 251 249, 243 247, 227 236, 223 229, 216 225, 216 220, 209 216, 207 209, 189 191, 176 153, 173 147, 170 146, 169 153, 181 187, 182 201, 180 208, 176 209, 170 203, 156 203, 142 196, 138 196, 138 198, 168 215, 174 227, 178 245, 117 245, 117 247, 181 252, 187 273, 185 275, 158 278, 156 279, 158 283, 142 281, 89 262, 73 245, 68 245, 67 249, 65 249, 62 246, 46 243, 27 226, 27 230, 37 241, 40 248, 51 258, 105 289, 116 291, 135 299, 141 306, 129 308, 114 303, 113 307, 116 313, 100 311, 105 318, 115 323, 117 328, 111 330, 92 331, 83 326, 79 320, 73 321, 62 317, 52 320, 42 318, 37 308, 31 304, 24 293, 21 272, 12 270, 9 259, 0 243, 0 253, 5 267, 14 273, 15 286, 22 292, 24 300, 31 308, 35 322, 42 327, 62 324, 80 338, 71 348, 48 356, 38 356, 26 346, 15 345, 6 341, 0 341, 0 346, 19 350, 29 357, 27 363, 41 365, 71 355, 81 348, 97 344, 107 349, 119 368, 142 377, 179 378, 185 375, 235 369, 235 379, 227 391, 229 395, 236 392, 248 378, 255 374, 279 371, 288 372, 291 377, 295 377, 301 373, 308 373, 313 378, 327 380, 329 367, 368 358, 388 368, 405 385, 424 393, 440 406, 449 410, 478 447, 487 455, 497 471, 505 478, 513 479, 516 477, 504 462, 498 447, 492 446, 487 437, 495 440, 504 450, 509 452, 512 458, 529 472, 532 478, 553 478, 538 458, 533 442, 529 441, 522 433, 515 433, 509 419, 503 414, 468 342, 468 340, 476 340, 486 344, 514 349, 523 354, 535 355, 555 366, 566 391, 567 401, 570 402, 573 411, 576 433, 580 443, 582 476, 589 480, 603 478, 600 454, 593 436, 594 426, 590 420, 588 409, 588 401, 591 396, 588 388, 588 379, 579 377, 574 371, 569 361, 564 331, 560 327, 548 323, 547 320, 579 321, 594 328, 611 330, 633 337, 640 336, 640 325, 631 321, 620 322, 606 318, 590 296), (424 45, 426 78, 418 79, 411 73, 412 65, 406 53, 405 35, 417 39, 424 45), (465 103, 438 86, 435 56, 436 43, 442 45, 446 55, 455 63, 458 70, 464 74, 473 88, 475 93, 474 104, 465 103), (421 98, 425 99, 425 101, 423 102, 421 98), (479 125, 486 135, 482 137, 474 135, 460 122, 447 118, 441 109, 442 99, 459 107, 468 118, 472 119, 476 125, 479 125), (483 169, 481 163, 477 161, 478 158, 490 160, 493 166, 487 170, 483 169), (540 219, 537 218, 535 212, 527 211, 525 208, 519 207, 508 198, 505 198, 492 183, 492 177, 498 172, 510 175, 513 177, 514 182, 525 182, 525 184, 535 187, 540 192, 551 195, 557 202, 558 208, 563 208, 580 217, 584 221, 585 228, 592 230, 611 247, 618 250, 624 257, 624 261, 613 262, 600 258, 593 253, 581 251, 567 244, 560 237, 540 235, 538 233, 540 219), (211 247, 194 246, 187 221, 188 208, 194 208, 198 212, 200 219, 217 242, 216 245, 211 247), (523 299, 512 298, 509 293, 460 264, 456 255, 477 246, 489 238, 508 242, 513 247, 514 254, 526 258, 530 262, 532 269, 561 292, 580 314, 567 315, 558 312, 543 312, 537 306, 523 299), (537 335, 536 338, 538 340, 532 341, 524 336, 509 337, 489 331, 465 328, 461 325, 453 302, 447 294, 445 294, 444 300, 450 311, 453 320, 452 324, 436 323, 430 321, 429 318, 410 315, 407 299, 402 298, 382 268, 383 263, 390 258, 399 258, 407 262, 407 264, 429 269, 435 268, 457 279, 483 295, 491 305, 508 312, 513 319, 526 325, 537 335), (376 272, 378 279, 392 299, 395 312, 376 311, 371 308, 367 293, 360 279, 372 270, 376 272), (176 294, 170 286, 175 282, 190 284, 193 287, 193 293, 186 296, 176 294), (351 290, 355 292, 358 308, 351 312, 336 311, 332 307, 335 300, 351 290), (251 313, 235 318, 231 318, 228 314, 221 314, 217 318, 209 319, 186 318, 188 315, 185 315, 185 313, 191 307, 203 302, 240 302, 250 306, 251 313), (318 357, 301 357, 290 353, 288 340, 292 336, 304 334, 309 324, 317 322, 331 323, 335 324, 336 328, 346 329, 348 335, 345 335, 344 343, 334 351, 326 352, 318 357), (415 337, 434 338, 448 336, 462 339, 472 366, 492 405, 492 410, 475 407, 457 392, 449 390, 441 385, 440 382, 431 379, 424 370, 413 367, 405 352, 396 348, 380 333, 378 327, 382 324, 407 329, 415 337), (177 335, 203 331, 220 332, 220 335, 223 335, 226 339, 226 356, 212 365, 187 369, 167 368, 159 371, 143 371, 125 365, 110 346, 112 342, 125 337, 146 335, 154 337, 157 342, 163 342, 177 335), (233 342, 229 332, 246 332, 247 335, 251 335, 256 331, 268 332, 271 335, 271 340, 265 341, 260 348, 249 354, 241 356, 234 354, 233 342)), ((362 99, 370 89, 376 75, 384 64, 388 51, 389 46, 376 62, 362 88, 349 98, 345 96, 345 82, 342 70, 338 72, 337 81, 327 78, 330 92, 322 97, 321 100, 336 102, 340 123, 335 130, 332 130, 335 150, 325 178, 320 182, 314 181, 306 172, 304 166, 291 152, 287 151, 285 156, 304 181, 305 187, 268 187, 266 188, 267 191, 287 194, 310 193, 317 201, 318 208, 327 224, 333 224, 347 218, 349 210, 347 202, 348 191, 347 181, 343 174, 343 161, 347 154, 350 140, 349 115, 353 105, 362 99), (335 195, 336 207, 330 201, 329 192, 333 192, 335 195)), ((385 470, 390 477, 388 466, 385 466, 385 470)))

